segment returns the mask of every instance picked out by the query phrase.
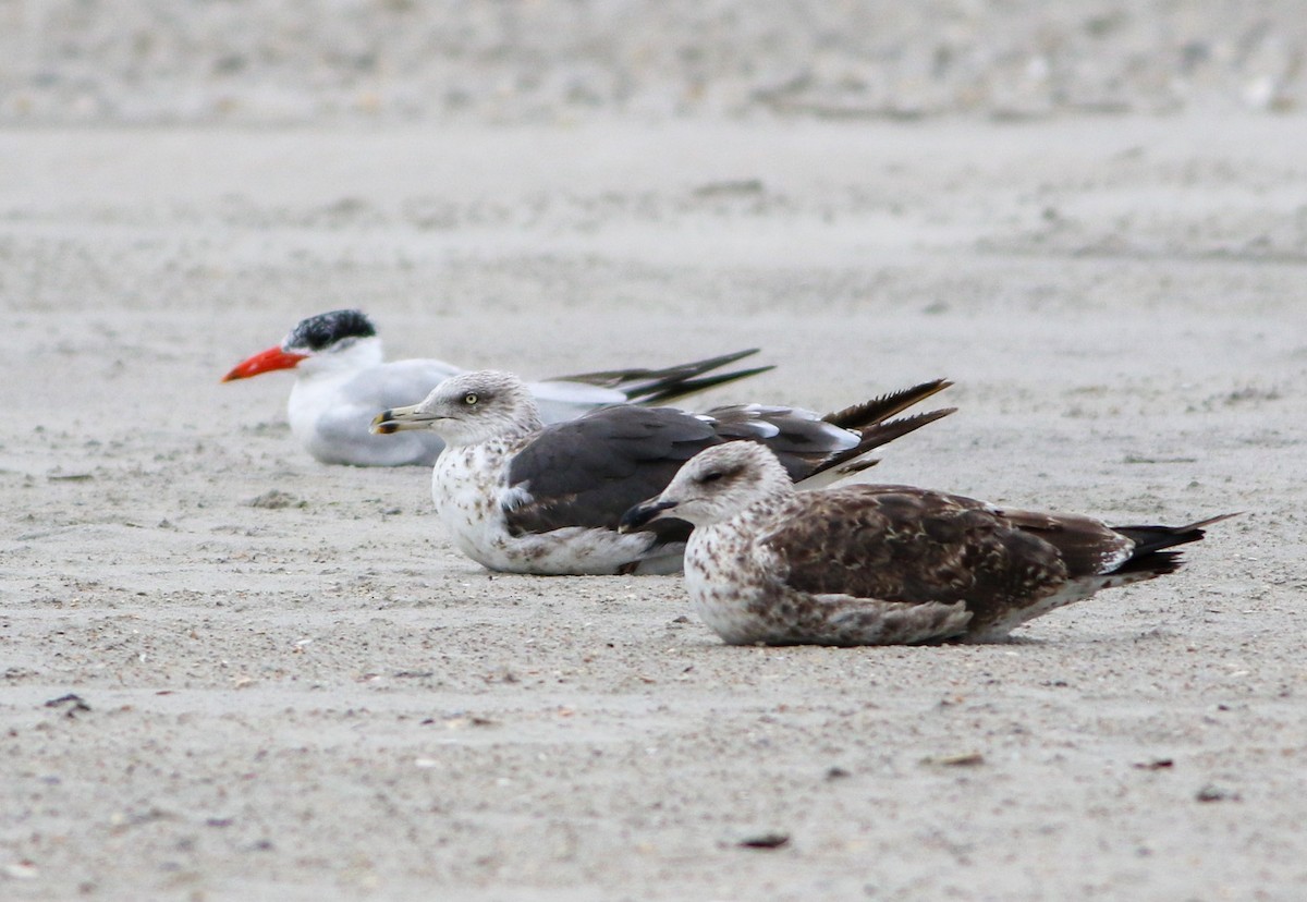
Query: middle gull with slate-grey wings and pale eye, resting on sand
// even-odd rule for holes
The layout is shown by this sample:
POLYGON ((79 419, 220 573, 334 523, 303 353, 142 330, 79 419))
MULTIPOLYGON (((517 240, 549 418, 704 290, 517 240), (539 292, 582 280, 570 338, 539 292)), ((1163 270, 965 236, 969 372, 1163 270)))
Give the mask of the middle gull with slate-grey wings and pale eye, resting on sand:
POLYGON ((755 404, 704 413, 620 405, 545 426, 520 379, 482 371, 440 383, 372 427, 444 439, 431 498, 459 550, 490 570, 676 573, 687 523, 667 519, 634 535, 620 533, 617 523, 695 454, 749 439, 779 455, 795 480, 835 478, 874 463, 867 456, 873 448, 951 413, 891 418, 948 386, 936 379, 826 417, 755 404))

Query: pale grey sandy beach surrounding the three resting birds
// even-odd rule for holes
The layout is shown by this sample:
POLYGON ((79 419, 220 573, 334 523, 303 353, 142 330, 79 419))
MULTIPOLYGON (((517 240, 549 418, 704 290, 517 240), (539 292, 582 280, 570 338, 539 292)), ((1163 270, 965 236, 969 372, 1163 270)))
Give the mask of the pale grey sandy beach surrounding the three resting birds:
POLYGON ((1297 3, 0 0, 0 898, 1302 898, 1304 52, 1297 3), (341 306, 778 365, 704 405, 946 375, 877 478, 1247 514, 1008 643, 727 648, 218 384, 341 306))

